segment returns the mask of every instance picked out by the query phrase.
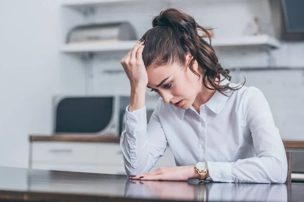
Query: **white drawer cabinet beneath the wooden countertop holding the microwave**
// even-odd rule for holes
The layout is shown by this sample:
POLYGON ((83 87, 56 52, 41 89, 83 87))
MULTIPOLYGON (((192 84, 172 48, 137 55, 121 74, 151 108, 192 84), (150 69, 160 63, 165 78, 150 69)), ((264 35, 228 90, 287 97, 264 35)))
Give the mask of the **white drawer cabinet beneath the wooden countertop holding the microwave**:
MULTIPOLYGON (((170 148, 157 162, 175 166, 170 148)), ((32 141, 30 168, 72 172, 126 174, 119 143, 32 141)))

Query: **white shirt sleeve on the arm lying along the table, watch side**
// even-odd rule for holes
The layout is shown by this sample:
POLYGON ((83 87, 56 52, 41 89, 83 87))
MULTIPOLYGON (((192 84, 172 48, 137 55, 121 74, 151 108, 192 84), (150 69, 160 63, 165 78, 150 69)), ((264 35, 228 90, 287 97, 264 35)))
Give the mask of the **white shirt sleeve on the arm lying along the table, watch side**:
POLYGON ((263 93, 249 87, 241 110, 251 131, 256 157, 237 162, 207 162, 210 177, 218 182, 284 183, 285 148, 263 93))

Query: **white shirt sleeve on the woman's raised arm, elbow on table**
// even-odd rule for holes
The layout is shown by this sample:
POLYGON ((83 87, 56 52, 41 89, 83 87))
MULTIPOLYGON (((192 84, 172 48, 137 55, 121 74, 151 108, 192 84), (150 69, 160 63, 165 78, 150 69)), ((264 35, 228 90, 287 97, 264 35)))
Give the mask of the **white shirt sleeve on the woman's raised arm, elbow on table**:
POLYGON ((121 134, 120 147, 128 175, 150 171, 165 153, 167 139, 158 112, 162 100, 154 110, 147 125, 146 107, 129 112, 126 108, 126 127, 121 134))

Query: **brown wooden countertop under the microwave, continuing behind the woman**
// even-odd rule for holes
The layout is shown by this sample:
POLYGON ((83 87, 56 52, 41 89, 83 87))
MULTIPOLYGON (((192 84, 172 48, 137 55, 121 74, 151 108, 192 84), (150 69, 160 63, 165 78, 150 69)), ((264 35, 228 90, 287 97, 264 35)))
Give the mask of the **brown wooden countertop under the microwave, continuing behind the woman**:
MULTIPOLYGON (((120 136, 114 134, 107 135, 30 135, 29 141, 62 141, 62 142, 112 142, 119 143, 120 136)), ((304 141, 283 140, 285 148, 304 148, 304 141)))

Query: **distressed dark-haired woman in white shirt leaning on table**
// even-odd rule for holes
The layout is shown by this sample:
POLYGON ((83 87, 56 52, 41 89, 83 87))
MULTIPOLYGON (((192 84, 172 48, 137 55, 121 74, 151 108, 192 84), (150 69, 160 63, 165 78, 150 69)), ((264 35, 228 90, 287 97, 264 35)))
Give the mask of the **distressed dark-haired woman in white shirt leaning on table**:
POLYGON ((120 146, 131 179, 284 183, 287 158, 267 100, 230 82, 193 17, 167 9, 124 57, 131 99, 120 146), (160 95, 147 125, 145 88, 160 95), (167 144, 177 167, 150 171, 167 144))

